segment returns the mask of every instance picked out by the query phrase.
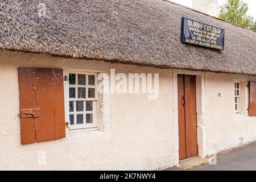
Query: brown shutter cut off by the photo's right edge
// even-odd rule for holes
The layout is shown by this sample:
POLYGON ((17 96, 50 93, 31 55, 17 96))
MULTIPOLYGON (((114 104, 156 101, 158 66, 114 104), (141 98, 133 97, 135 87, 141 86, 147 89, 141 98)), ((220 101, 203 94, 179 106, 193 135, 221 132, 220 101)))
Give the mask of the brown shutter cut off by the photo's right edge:
POLYGON ((256 82, 249 83, 249 115, 256 116, 256 82))

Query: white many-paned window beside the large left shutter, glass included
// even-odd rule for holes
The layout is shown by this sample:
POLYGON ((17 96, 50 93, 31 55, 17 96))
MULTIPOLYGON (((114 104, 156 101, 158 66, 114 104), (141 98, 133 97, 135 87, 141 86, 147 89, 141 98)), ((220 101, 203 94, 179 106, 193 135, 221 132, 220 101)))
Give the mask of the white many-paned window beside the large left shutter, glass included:
POLYGON ((69 123, 71 130, 97 127, 96 73, 70 72, 69 123))

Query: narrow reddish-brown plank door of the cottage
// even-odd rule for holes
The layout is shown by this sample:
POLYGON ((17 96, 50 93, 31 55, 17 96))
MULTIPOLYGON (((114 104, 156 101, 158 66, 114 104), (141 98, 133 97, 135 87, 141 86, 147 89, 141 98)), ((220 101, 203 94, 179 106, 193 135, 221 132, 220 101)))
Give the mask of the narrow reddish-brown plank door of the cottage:
POLYGON ((198 155, 196 76, 177 75, 178 118, 179 118, 179 159, 198 155))

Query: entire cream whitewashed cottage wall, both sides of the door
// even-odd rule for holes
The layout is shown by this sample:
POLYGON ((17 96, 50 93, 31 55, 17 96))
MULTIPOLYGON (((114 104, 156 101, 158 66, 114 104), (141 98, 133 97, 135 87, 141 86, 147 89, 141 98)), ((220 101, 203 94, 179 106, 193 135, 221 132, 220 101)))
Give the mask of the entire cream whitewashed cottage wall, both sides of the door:
MULTIPOLYGON (((0 51, 0 169, 163 169, 178 162, 172 69, 156 69, 49 55, 0 51), (159 98, 110 94, 104 131, 69 134, 60 140, 20 144, 18 67, 159 73, 159 98), (176 143, 175 143, 176 142, 176 143), (40 164, 45 152, 46 164, 40 164)), ((176 72, 176 70, 175 70, 176 72)), ((195 73, 195 72, 193 72, 195 73)), ((256 77, 204 73, 206 155, 256 140, 256 117, 234 114, 234 80, 256 77), (221 97, 218 97, 221 93, 221 97), (242 138, 242 142, 241 142, 242 138)))

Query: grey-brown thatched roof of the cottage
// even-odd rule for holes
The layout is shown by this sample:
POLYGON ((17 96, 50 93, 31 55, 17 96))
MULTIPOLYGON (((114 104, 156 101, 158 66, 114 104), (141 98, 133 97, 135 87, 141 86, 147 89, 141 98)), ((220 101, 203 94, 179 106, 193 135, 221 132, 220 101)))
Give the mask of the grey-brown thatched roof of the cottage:
POLYGON ((2 49, 256 75, 256 32, 166 1, 2 0, 0 22, 2 49), (182 16, 224 28, 225 50, 180 43, 182 16))

